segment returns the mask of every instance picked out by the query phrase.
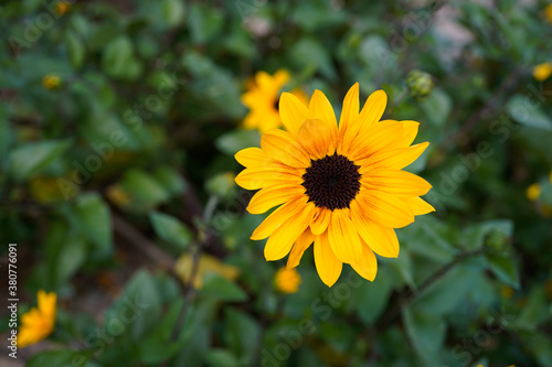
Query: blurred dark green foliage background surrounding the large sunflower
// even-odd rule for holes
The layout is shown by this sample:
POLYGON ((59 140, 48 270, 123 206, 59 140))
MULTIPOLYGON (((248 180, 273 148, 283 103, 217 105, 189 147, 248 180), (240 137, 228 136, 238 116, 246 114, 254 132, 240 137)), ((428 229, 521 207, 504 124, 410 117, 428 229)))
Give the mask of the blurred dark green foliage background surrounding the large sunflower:
POLYGON ((1 307, 2 367, 552 366, 548 1, 1 1, 0 34, 2 304, 56 294, 17 359, 1 307), (374 282, 248 239, 241 95, 278 71, 270 104, 359 82, 431 142, 374 282))

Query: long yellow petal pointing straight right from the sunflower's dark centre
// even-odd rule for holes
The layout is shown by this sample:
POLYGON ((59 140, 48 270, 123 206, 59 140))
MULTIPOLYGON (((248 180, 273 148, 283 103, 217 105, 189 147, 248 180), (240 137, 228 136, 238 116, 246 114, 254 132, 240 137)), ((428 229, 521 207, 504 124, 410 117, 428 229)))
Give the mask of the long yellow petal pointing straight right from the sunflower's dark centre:
POLYGON ((400 196, 422 196, 432 185, 421 176, 400 170, 378 170, 362 174, 360 183, 367 191, 385 192, 400 196))

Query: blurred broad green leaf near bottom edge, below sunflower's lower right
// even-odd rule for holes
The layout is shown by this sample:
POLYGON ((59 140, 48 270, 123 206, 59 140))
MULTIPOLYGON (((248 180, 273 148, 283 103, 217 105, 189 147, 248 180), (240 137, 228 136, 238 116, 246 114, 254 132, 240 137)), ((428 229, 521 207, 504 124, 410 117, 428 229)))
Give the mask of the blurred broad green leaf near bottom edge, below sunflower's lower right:
POLYGON ((435 356, 445 342, 447 325, 442 316, 417 312, 413 307, 403 310, 406 334, 422 358, 435 356))

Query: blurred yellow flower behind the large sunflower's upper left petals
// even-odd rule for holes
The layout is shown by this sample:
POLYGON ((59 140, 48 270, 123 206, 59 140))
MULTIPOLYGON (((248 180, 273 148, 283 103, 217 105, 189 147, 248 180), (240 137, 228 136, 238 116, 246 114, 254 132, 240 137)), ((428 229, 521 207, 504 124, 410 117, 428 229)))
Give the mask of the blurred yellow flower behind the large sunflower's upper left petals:
MULTIPOLYGON (((250 108, 243 126, 246 129, 258 129, 265 132, 282 126, 278 114, 278 97, 282 88, 289 82, 289 74, 279 69, 273 76, 258 72, 255 79, 247 85, 247 91, 242 95, 242 102, 250 108)), ((307 96, 300 89, 291 90, 302 101, 307 96)))

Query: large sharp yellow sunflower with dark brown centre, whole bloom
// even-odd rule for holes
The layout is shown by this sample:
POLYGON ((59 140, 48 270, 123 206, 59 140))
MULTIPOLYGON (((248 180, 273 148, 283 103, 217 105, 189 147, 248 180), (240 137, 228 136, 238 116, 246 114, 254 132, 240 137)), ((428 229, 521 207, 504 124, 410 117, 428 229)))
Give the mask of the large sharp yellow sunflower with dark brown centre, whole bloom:
POLYGON ((251 237, 268 238, 268 261, 289 253, 287 267, 294 268, 314 242, 316 268, 328 287, 338 280, 343 262, 373 280, 374 252, 399 256, 393 228, 435 211, 420 198, 432 185, 402 171, 429 143, 410 147, 418 122, 380 121, 386 100, 385 93, 378 90, 359 114, 357 83, 344 98, 338 128, 333 108, 320 90, 308 107, 284 93, 279 115, 287 131, 268 131, 261 149, 236 153, 246 168, 236 183, 246 190, 262 188, 247 211, 262 214, 283 204, 251 237))

